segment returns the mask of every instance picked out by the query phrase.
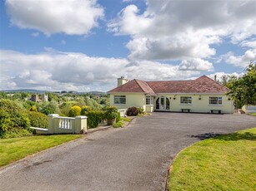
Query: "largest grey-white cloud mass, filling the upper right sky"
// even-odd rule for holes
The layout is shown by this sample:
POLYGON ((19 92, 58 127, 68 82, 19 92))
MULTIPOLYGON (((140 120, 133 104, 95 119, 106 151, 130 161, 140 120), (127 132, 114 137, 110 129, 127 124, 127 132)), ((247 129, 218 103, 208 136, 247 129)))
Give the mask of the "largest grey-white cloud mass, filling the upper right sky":
POLYGON ((125 7, 108 30, 130 35, 130 60, 191 60, 216 54, 224 37, 239 43, 256 34, 254 0, 147 0, 125 7))

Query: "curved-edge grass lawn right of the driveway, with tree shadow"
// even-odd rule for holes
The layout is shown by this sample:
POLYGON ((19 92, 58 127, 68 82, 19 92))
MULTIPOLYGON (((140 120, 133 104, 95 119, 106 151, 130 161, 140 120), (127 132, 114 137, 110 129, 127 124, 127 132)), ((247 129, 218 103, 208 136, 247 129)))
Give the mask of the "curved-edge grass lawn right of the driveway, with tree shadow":
POLYGON ((256 128, 203 140, 173 161, 169 190, 256 190, 256 128))

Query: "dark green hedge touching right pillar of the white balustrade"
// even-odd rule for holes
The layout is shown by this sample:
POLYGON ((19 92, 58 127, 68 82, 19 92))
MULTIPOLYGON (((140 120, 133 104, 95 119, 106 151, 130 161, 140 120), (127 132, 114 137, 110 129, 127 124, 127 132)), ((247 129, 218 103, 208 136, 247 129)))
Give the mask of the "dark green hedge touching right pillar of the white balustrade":
POLYGON ((88 117, 87 125, 89 128, 95 128, 101 121, 105 120, 105 111, 103 110, 90 110, 85 115, 88 117))

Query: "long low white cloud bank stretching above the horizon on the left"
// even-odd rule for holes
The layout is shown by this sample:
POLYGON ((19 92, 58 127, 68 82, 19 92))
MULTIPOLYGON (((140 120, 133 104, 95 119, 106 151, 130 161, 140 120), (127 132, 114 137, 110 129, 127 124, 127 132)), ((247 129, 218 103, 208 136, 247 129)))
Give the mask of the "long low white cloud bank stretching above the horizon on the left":
POLYGON ((140 61, 133 65, 127 59, 47 50, 35 55, 0 51, 1 89, 109 91, 116 86, 119 76, 159 81, 183 80, 200 74, 199 71, 181 72, 178 66, 155 61, 140 61))

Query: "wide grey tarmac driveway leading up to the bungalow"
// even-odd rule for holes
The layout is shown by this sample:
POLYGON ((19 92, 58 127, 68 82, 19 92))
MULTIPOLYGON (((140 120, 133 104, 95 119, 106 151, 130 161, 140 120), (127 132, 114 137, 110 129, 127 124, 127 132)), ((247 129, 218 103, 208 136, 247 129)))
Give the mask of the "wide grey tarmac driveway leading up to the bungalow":
POLYGON ((0 170, 5 190, 164 190, 178 152, 204 136, 256 126, 248 115, 154 113, 0 170))

